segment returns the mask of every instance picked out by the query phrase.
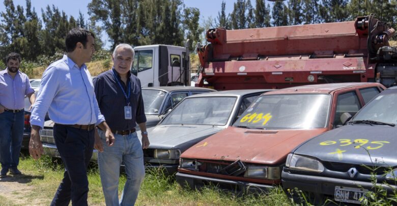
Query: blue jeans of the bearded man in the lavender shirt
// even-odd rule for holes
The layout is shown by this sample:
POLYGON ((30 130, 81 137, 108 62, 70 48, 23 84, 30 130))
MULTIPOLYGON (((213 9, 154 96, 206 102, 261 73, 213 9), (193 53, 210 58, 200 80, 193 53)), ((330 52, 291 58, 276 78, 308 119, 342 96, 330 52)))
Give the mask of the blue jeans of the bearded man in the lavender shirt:
POLYGON ((23 138, 24 111, 0 114, 0 163, 3 169, 16 169, 23 138))

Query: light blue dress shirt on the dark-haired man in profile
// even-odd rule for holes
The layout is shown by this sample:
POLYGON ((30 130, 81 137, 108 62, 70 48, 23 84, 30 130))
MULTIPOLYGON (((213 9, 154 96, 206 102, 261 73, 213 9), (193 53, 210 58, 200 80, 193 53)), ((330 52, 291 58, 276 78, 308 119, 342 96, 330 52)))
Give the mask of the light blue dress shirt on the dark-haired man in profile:
POLYGON ((64 125, 100 124, 101 114, 87 66, 81 68, 67 56, 44 71, 40 91, 33 105, 31 125, 44 127, 48 115, 54 123, 64 125))

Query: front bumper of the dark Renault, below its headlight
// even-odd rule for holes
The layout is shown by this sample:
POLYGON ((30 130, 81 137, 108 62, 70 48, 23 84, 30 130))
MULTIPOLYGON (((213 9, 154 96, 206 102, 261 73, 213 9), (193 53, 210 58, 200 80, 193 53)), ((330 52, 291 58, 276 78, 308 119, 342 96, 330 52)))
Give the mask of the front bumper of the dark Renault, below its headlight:
MULTIPOLYGON (((371 182, 344 180, 337 178, 328 178, 325 176, 312 176, 306 174, 294 174, 288 171, 282 171, 281 173, 282 187, 285 189, 298 188, 306 192, 311 192, 316 195, 330 195, 334 196, 335 187, 351 187, 351 188, 363 188, 372 190, 374 185, 371 182)), ((395 185, 377 184, 385 189, 388 193, 397 189, 395 185)))

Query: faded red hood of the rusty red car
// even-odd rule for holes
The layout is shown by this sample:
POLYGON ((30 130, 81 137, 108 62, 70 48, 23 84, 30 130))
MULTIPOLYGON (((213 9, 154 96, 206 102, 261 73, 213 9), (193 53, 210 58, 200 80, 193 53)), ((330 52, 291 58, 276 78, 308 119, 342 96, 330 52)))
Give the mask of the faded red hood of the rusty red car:
POLYGON ((229 127, 192 146, 183 158, 279 164, 303 141, 326 128, 259 130, 229 127))

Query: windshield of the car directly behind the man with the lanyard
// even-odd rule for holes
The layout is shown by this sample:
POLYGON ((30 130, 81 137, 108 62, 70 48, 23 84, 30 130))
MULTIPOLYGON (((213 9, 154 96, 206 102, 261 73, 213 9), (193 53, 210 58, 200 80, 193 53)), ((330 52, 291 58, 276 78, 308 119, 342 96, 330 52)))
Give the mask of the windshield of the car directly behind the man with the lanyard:
POLYGON ((159 110, 165 96, 166 92, 161 90, 142 90, 145 114, 159 114, 159 110))

